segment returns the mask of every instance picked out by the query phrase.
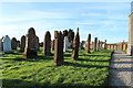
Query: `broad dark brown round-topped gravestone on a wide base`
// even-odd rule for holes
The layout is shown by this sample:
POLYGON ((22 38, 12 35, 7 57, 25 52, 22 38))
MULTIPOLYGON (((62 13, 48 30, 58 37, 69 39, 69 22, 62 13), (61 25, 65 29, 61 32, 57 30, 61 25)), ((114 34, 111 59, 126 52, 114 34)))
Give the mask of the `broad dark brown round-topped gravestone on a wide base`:
POLYGON ((25 35, 25 47, 23 53, 24 58, 33 58, 38 56, 35 40, 35 31, 33 28, 30 28, 28 34, 25 35))

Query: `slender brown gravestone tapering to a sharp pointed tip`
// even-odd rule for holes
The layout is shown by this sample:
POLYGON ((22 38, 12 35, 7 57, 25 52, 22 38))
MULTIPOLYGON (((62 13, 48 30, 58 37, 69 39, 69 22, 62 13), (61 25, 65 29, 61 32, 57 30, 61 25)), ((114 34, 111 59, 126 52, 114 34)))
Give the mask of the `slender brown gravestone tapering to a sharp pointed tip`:
POLYGON ((76 34, 73 38, 73 50, 72 50, 72 59, 79 59, 79 45, 80 45, 80 35, 79 35, 79 28, 76 34))

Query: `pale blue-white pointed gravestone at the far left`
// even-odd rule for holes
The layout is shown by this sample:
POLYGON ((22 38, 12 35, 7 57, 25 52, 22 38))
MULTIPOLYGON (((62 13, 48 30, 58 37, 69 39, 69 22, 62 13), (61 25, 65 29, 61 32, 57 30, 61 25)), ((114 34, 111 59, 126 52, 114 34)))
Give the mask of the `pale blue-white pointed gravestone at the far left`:
POLYGON ((12 53, 11 48, 11 40, 8 35, 3 38, 3 53, 9 54, 12 53))

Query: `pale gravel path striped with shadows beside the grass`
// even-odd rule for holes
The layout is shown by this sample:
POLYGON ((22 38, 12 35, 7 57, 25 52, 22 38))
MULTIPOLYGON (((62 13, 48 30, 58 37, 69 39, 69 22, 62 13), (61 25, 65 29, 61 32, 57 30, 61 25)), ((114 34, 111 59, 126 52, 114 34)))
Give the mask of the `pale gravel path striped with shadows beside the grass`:
POLYGON ((110 86, 133 87, 133 57, 122 51, 114 51, 110 69, 110 86), (131 80, 132 79, 132 80, 131 80))

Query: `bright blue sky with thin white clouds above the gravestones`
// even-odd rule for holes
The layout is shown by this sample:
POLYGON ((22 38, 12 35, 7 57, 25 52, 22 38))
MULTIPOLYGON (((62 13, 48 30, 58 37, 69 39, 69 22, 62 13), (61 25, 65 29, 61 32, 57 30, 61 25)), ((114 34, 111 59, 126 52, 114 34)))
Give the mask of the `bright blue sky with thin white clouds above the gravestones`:
POLYGON ((81 41, 89 33, 108 43, 129 41, 130 2, 0 2, 0 37, 21 38, 34 28, 40 42, 47 31, 80 28, 81 41))

